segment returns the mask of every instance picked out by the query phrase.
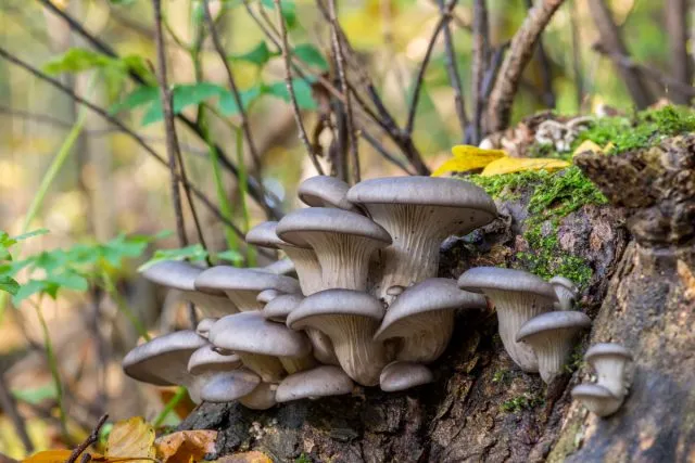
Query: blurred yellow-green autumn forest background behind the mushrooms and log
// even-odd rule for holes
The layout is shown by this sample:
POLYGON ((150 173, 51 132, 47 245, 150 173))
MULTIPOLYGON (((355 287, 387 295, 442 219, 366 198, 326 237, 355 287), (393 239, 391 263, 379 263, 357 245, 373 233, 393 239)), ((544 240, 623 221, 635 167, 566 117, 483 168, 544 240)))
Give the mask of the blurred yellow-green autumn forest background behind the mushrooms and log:
MULTIPOLYGON (((200 0, 162 4, 168 85, 185 175, 199 195, 193 203, 201 245, 186 189, 179 193, 187 239, 179 232, 177 240, 167 163, 143 147, 166 159, 152 2, 0 1, 0 230, 9 236, 49 231, 8 242, 15 270, 22 270, 17 280, 29 284, 0 306, 0 404, 15 410, 0 415, 2 453, 25 454, 17 428, 27 429, 33 449, 73 446, 105 410, 112 419, 154 419, 162 412, 175 391, 136 385, 119 366, 144 332, 189 325, 175 295, 163 298, 137 278, 138 266, 155 248, 174 249, 159 257, 267 265, 274 256, 247 249, 240 239, 249 227, 295 207, 296 185, 316 173, 316 164, 356 178, 354 165, 331 163, 337 150, 348 149, 336 146, 331 137, 342 127, 341 121, 338 129, 330 127, 332 107, 342 103, 323 85, 341 88, 340 63, 331 57, 328 2, 282 0, 282 27, 273 0, 207 3, 208 17, 200 0), (285 27, 299 112, 285 82, 285 27), (243 115, 220 50, 233 72, 243 115), (18 66, 17 59, 42 77, 18 66), (45 77, 103 108, 122 127, 45 77), (320 157, 315 163, 298 138, 300 114, 311 150, 320 157), (166 230, 173 232, 162 233, 166 230), (24 421, 22 426, 16 420, 24 421)), ((359 98, 369 100, 376 91, 392 116, 384 120, 374 103, 364 105, 371 116, 355 111, 350 124, 361 136, 363 178, 427 175, 450 157, 451 146, 477 144, 485 132, 507 128, 505 120, 476 128, 482 114, 476 101, 486 95, 471 90, 475 69, 481 69, 483 88, 485 79, 494 79, 532 3, 339 2, 349 75, 361 87, 353 105, 362 106, 359 98), (480 8, 486 10, 488 30, 480 8), (452 11, 448 28, 432 40, 446 9, 452 11), (482 42, 476 40, 481 37, 482 42), (476 65, 476 47, 483 47, 485 66, 476 65), (460 99, 452 76, 459 81, 460 99), (469 125, 462 121, 462 107, 469 125), (409 137, 390 136, 389 123, 412 127, 409 137)), ((690 102, 693 13, 687 0, 536 3, 559 9, 518 82, 511 125, 542 110, 568 116, 631 114, 659 99, 690 102)), ((177 407, 185 414, 190 404, 177 407)), ((160 424, 175 424, 180 413, 160 415, 160 424)))

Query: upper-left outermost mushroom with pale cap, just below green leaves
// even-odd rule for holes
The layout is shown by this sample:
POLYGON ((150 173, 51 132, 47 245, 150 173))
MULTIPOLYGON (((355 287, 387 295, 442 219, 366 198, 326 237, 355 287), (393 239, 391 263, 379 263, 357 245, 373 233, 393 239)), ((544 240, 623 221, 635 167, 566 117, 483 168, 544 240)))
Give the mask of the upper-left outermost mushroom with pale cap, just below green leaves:
POLYGON ((142 271, 142 275, 153 283, 179 290, 184 299, 207 309, 215 314, 236 313, 239 310, 224 292, 202 293, 197 291, 195 278, 205 269, 179 260, 163 260, 142 271))

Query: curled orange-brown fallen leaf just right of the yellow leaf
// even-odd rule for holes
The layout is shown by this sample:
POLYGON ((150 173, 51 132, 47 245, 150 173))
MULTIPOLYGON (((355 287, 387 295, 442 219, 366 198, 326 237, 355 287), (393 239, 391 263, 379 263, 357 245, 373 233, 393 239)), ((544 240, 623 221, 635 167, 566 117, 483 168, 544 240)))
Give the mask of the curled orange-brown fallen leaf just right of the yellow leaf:
POLYGON ((215 451, 216 430, 180 430, 156 439, 156 455, 166 463, 190 463, 215 451))

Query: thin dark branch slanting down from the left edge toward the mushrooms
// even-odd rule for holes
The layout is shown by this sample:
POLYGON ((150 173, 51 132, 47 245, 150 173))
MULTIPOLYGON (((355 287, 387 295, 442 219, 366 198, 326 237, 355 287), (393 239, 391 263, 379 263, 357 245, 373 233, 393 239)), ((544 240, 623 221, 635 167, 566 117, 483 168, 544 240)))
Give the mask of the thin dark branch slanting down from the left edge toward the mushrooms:
MULTIPOLYGON (((11 63, 13 63, 13 64, 15 64, 17 66, 24 68, 25 70, 29 72, 31 75, 37 77, 38 79, 41 79, 41 80, 50 83, 51 86, 53 86, 54 88, 56 88, 61 92, 65 93, 66 95, 72 98, 77 103, 79 103, 79 104, 88 107, 89 110, 93 111, 94 113, 99 114, 105 120, 108 120, 111 124, 113 124, 114 126, 116 126, 122 132, 124 132, 124 133, 128 134, 130 138, 132 138, 149 155, 154 157, 154 159, 157 160, 161 165, 163 165, 165 167, 168 167, 168 163, 166 162, 166 159, 164 159, 156 151, 154 151, 144 141, 144 139, 142 137, 140 137, 137 132, 135 132, 134 130, 128 128, 119 119, 117 119, 114 116, 112 116, 111 114, 109 114, 102 107, 99 107, 96 104, 93 104, 93 103, 85 100, 84 98, 79 97, 72 89, 70 89, 68 87, 63 85, 60 80, 54 79, 54 78, 46 75, 45 73, 40 72, 39 69, 35 68, 30 64, 25 63, 24 61, 20 60, 18 57, 16 57, 13 54, 11 54, 10 52, 8 52, 2 47, 0 47, 0 56, 4 57, 9 62, 11 62, 11 63)), ((182 179, 178 175, 176 176, 176 178, 178 179, 178 181, 182 181, 182 179)), ((219 220, 224 221, 225 223, 227 223, 235 231, 235 233, 237 233, 239 236, 241 236, 241 237, 244 236, 244 233, 241 230, 239 230, 239 228, 233 222, 228 220, 219 211, 219 209, 207 198, 207 196, 201 190, 199 190, 195 185, 193 185, 191 183, 188 183, 188 185, 191 189, 191 192, 193 193, 193 195, 197 196, 205 205, 205 207, 207 207, 211 210, 211 213, 217 219, 219 219, 219 220)))

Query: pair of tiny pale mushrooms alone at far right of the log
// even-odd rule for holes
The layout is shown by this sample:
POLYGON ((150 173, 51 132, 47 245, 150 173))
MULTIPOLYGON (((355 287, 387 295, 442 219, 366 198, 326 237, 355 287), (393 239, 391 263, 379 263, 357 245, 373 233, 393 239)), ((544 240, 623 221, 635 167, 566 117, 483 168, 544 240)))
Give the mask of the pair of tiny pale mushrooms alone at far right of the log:
POLYGON ((632 353, 619 344, 595 344, 584 353, 584 360, 596 372, 596 383, 584 383, 572 389, 572 397, 598 416, 618 411, 628 395, 628 366, 632 353))

